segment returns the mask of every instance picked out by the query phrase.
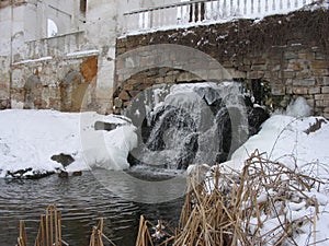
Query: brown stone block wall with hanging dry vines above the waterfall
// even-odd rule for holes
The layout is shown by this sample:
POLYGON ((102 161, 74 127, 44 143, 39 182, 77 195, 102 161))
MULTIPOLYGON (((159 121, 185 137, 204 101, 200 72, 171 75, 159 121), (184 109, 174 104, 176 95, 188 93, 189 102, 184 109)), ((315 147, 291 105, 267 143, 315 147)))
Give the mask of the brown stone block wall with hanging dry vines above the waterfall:
MULTIPOLYGON (((154 54, 139 52, 141 47, 174 44, 211 56, 232 79, 245 81, 247 87, 254 82, 268 82, 272 98, 266 103, 273 107, 285 107, 291 98, 300 95, 307 98, 315 115, 329 118, 328 20, 329 11, 320 9, 269 16, 262 21, 239 20, 118 38, 116 112, 154 84, 205 81, 205 77, 186 71, 182 65, 174 66, 175 56, 168 58, 171 63, 160 62, 164 67, 152 68, 148 65, 151 60, 148 56, 154 54), (133 66, 139 67, 136 71, 132 70, 129 52, 133 50, 139 54, 136 58, 133 52, 133 66)), ((188 61, 194 62, 192 58, 188 61)), ((206 79, 215 78, 208 75, 206 79)))

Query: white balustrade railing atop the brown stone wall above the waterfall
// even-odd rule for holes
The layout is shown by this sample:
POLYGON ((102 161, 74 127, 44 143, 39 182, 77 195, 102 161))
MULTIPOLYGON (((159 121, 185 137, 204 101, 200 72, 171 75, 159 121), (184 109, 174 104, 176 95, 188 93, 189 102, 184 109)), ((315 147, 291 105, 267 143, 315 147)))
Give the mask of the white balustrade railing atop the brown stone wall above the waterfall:
POLYGON ((191 0, 124 13, 124 33, 287 13, 315 0, 191 0))

